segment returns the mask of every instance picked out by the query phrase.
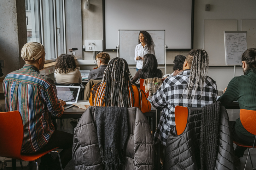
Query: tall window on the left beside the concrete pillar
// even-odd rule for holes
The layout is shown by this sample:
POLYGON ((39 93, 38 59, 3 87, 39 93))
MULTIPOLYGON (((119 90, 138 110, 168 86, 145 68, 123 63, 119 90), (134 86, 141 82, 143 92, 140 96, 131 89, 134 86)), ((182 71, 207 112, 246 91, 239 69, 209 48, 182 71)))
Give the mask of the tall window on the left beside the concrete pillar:
POLYGON ((28 42, 45 46, 46 63, 65 51, 63 1, 25 0, 28 42))

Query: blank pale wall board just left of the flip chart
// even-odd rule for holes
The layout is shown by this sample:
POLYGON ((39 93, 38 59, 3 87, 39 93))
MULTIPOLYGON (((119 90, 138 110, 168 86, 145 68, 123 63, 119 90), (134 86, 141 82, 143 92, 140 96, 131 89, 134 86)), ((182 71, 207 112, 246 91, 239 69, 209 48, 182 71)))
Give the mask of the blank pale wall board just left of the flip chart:
POLYGON ((224 31, 237 31, 237 20, 205 19, 204 50, 209 56, 209 66, 225 66, 224 31))

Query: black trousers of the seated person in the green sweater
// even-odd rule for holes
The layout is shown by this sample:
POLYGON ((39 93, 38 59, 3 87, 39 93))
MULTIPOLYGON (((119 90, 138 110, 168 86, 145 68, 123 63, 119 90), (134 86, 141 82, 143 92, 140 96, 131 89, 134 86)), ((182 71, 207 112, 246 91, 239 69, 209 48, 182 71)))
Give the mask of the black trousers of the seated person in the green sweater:
MULTIPOLYGON (((234 141, 237 141, 241 144, 252 146, 254 143, 255 137, 249 137, 235 130, 235 121, 229 121, 229 127, 231 128, 231 135, 234 141)), ((247 147, 238 146, 235 148, 235 155, 240 158, 243 157, 244 151, 247 147)))

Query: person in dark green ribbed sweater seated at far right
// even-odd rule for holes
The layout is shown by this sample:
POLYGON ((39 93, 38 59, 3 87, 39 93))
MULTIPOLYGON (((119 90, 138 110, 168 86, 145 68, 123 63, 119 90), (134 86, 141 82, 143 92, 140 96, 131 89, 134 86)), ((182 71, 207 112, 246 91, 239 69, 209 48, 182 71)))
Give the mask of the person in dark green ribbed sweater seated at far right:
MULTIPOLYGON (((228 87, 218 101, 223 106, 232 101, 239 102, 240 109, 256 111, 256 48, 247 49, 242 55, 242 68, 244 75, 232 78, 228 87)), ((231 134, 234 141, 252 146, 255 136, 248 132, 241 123, 240 118, 230 121, 231 134)), ((235 148, 235 165, 238 166, 240 157, 244 155, 247 147, 235 148)))

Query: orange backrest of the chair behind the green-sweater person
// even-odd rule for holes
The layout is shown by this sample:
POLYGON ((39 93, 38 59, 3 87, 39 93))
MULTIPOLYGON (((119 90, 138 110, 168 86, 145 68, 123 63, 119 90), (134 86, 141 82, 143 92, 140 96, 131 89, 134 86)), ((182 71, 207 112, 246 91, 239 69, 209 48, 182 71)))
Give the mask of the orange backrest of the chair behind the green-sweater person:
POLYGON ((256 135, 256 111, 240 109, 240 120, 248 132, 256 135))

